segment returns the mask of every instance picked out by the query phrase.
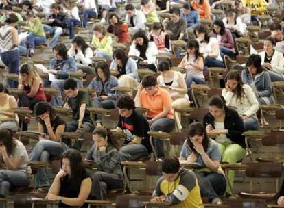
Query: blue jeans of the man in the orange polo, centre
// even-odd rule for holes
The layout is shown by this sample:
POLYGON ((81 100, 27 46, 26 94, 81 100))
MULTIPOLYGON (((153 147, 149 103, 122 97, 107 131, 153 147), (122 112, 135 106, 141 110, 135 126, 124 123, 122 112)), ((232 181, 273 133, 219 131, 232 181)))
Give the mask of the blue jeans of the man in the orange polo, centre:
MULTIPOLYGON (((152 123, 152 125, 150 126, 150 131, 170 132, 174 129, 174 125, 174 119, 159 118, 152 123)), ((158 157, 165 156, 164 143, 162 140, 154 139, 154 146, 158 157)))

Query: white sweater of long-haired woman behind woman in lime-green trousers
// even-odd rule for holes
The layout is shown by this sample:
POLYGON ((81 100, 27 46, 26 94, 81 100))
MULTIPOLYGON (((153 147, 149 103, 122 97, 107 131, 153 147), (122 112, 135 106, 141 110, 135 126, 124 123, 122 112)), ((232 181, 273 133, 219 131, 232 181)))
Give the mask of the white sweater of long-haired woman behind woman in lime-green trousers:
POLYGON ((222 96, 224 97, 227 106, 237 108, 237 113, 239 116, 255 116, 259 110, 259 102, 257 101, 257 97, 249 85, 244 84, 243 89, 244 97, 242 99, 237 99, 237 94, 226 90, 226 88, 222 90, 222 96))

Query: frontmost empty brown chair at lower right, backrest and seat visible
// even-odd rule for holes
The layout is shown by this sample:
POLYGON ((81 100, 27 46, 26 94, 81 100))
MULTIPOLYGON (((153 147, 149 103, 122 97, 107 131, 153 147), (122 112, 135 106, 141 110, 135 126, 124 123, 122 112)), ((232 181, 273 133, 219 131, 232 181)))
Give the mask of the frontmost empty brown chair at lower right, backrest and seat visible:
POLYGON ((242 198, 258 198, 265 200, 272 200, 276 193, 279 191, 279 178, 282 175, 281 162, 275 163, 249 163, 246 164, 246 177, 250 178, 250 192, 239 192, 239 196, 242 198), (276 192, 252 192, 252 178, 274 178, 276 179, 276 192))

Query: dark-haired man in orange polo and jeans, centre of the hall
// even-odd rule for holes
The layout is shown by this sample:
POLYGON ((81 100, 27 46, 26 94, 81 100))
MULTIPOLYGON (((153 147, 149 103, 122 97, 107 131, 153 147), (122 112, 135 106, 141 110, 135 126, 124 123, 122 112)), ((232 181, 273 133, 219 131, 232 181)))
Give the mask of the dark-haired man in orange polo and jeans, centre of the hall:
MULTIPOLYGON (((175 120, 171 108, 171 95, 167 90, 158 86, 156 77, 153 75, 143 77, 134 101, 135 106, 149 109, 146 117, 150 131, 170 132, 174 129, 175 120)), ((163 141, 155 139, 154 145, 157 157, 163 157, 163 141)))

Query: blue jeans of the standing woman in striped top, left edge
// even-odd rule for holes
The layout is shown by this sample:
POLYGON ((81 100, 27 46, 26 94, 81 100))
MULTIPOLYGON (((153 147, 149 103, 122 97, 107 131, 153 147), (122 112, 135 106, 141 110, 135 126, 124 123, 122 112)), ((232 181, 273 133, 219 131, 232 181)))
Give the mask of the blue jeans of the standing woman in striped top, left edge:
MULTIPOLYGON (((20 51, 18 49, 1 53, 2 62, 8 67, 9 73, 19 75, 20 51)), ((10 88, 18 88, 18 81, 7 79, 10 88)))

